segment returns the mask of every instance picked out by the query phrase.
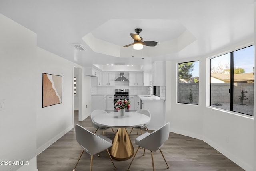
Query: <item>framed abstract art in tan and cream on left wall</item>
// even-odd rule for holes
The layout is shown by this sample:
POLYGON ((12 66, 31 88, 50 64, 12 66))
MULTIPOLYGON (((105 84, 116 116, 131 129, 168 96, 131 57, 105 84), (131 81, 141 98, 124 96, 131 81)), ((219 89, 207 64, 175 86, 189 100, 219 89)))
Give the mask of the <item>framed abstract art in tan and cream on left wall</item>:
POLYGON ((43 73, 42 107, 62 103, 62 76, 43 73))

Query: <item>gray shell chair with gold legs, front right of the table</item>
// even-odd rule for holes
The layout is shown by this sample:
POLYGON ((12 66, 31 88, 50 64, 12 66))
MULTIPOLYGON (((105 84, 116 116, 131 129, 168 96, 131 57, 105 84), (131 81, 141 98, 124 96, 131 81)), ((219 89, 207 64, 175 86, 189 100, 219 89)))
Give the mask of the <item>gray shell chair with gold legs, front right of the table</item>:
MULTIPOLYGON (((153 166, 153 171, 154 169, 154 159, 153 159, 153 152, 152 151, 156 151, 159 149, 159 151, 161 152, 163 158, 164 158, 164 154, 162 153, 162 150, 160 149, 160 147, 168 140, 169 138, 169 134, 170 134, 170 123, 168 122, 167 124, 165 124, 164 126, 162 126, 161 128, 153 131, 152 133, 144 133, 140 136, 138 136, 135 139, 135 143, 138 145, 138 148, 132 158, 132 161, 134 160, 135 155, 138 152, 138 149, 140 147, 144 148, 144 153, 145 154, 145 149, 150 150, 151 152, 151 159, 152 159, 152 166, 153 166)), ((132 161, 128 167, 128 171, 130 170, 130 166, 132 165, 132 161)), ((167 165, 167 169, 170 169, 170 167, 168 166, 166 159, 164 158, 164 161, 167 165)))

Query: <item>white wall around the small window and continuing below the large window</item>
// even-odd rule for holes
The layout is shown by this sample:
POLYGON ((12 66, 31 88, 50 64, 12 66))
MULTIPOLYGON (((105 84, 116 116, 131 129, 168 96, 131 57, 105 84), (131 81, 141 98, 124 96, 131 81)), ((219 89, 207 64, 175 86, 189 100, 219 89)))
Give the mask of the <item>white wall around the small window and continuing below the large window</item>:
MULTIPOLYGON (((247 45, 247 44, 246 44, 247 45)), ((236 48, 229 47, 229 49, 236 48)), ((227 49, 225 49, 226 51, 227 49)), ((171 132, 204 140, 246 171, 254 165, 254 120, 235 112, 208 107, 209 59, 180 59, 166 62, 166 122, 171 132), (178 104, 177 63, 199 60, 199 105, 178 104)), ((254 90, 255 91, 255 90, 254 90)))

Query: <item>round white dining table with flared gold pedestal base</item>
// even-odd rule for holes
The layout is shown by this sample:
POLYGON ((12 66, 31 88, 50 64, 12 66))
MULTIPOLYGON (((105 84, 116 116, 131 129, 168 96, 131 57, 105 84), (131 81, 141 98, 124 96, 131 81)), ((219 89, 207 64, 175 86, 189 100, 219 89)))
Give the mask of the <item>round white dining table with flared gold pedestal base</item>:
POLYGON ((150 117, 136 112, 125 112, 124 117, 121 118, 119 112, 110 112, 98 114, 93 120, 101 126, 118 127, 109 152, 113 159, 124 161, 134 155, 134 147, 126 127, 147 124, 150 122, 150 117))

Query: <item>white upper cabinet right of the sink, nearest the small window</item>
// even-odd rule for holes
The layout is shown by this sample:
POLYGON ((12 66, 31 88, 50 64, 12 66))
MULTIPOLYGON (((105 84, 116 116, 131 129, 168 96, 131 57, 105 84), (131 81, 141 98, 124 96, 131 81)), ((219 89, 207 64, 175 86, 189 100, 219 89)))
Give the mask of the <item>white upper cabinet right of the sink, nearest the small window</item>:
POLYGON ((165 86, 164 61, 155 61, 152 64, 152 86, 165 86))

